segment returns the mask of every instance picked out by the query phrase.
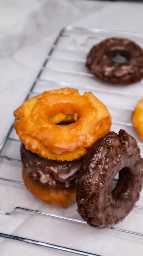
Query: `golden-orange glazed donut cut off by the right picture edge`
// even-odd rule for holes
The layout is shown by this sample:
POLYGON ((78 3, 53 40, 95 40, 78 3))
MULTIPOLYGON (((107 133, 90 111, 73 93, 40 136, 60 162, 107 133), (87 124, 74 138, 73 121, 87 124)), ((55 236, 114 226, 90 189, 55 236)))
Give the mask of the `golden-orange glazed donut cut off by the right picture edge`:
POLYGON ((140 138, 143 139, 143 99, 137 103, 132 113, 132 122, 140 138))

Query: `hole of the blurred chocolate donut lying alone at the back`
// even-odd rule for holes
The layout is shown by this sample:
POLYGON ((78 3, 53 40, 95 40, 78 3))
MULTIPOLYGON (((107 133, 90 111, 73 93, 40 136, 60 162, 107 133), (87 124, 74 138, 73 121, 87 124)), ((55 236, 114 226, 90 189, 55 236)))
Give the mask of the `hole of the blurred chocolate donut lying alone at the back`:
POLYGON ((112 53, 112 61, 123 64, 130 60, 130 55, 125 51, 115 51, 112 53))

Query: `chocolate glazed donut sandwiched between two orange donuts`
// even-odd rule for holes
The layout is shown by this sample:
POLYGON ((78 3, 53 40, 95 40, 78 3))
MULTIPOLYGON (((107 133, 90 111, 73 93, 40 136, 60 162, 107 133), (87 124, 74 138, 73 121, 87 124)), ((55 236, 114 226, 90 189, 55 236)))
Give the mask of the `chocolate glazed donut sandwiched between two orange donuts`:
POLYGON ((20 154, 26 174, 39 185, 49 188, 75 186, 82 160, 51 161, 27 150, 24 144, 21 144, 20 154))

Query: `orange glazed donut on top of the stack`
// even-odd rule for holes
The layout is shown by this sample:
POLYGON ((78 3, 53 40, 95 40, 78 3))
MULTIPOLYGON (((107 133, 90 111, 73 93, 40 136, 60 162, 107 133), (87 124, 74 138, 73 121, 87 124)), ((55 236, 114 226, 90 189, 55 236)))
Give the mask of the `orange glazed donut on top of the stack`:
POLYGON ((43 92, 25 101, 14 115, 13 126, 26 149, 57 161, 72 161, 110 131, 106 106, 91 92, 81 96, 76 89, 43 92), (61 121, 75 121, 57 125, 61 121))

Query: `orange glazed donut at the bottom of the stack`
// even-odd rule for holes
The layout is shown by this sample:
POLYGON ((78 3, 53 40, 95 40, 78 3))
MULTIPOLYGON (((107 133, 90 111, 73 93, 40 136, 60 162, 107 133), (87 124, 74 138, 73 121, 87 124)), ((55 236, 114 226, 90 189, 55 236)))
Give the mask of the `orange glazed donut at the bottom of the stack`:
POLYGON ((68 204, 76 202, 75 199, 75 186, 71 188, 46 188, 41 187, 37 182, 32 181, 24 167, 22 167, 22 178, 26 188, 37 199, 42 200, 46 204, 55 204, 64 209, 68 208, 68 204))

